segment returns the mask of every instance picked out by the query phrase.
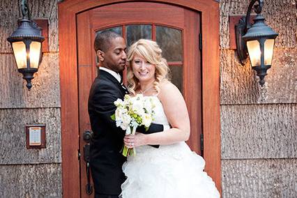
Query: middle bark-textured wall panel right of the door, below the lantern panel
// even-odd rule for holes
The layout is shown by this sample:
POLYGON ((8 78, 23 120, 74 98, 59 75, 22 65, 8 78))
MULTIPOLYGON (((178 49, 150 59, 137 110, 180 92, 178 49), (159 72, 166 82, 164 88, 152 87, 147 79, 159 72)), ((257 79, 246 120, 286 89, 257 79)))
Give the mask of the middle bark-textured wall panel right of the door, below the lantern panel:
POLYGON ((297 104, 222 105, 222 159, 297 158, 297 104))

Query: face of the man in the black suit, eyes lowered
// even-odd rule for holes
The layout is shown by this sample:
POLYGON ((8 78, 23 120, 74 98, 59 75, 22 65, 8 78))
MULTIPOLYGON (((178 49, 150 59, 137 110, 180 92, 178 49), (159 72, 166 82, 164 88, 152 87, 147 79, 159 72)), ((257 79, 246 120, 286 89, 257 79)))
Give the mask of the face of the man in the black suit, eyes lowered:
POLYGON ((104 52, 104 66, 116 73, 125 69, 127 55, 125 53, 125 40, 121 37, 110 40, 110 47, 104 52))

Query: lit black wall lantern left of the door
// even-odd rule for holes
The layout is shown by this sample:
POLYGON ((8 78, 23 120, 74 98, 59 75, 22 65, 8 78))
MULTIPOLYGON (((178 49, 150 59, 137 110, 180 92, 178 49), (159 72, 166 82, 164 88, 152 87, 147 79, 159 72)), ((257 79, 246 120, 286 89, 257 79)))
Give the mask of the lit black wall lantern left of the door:
POLYGON ((41 29, 36 22, 31 20, 29 6, 26 0, 22 0, 22 20, 20 26, 10 35, 7 40, 13 48, 17 70, 26 79, 26 87, 32 87, 31 79, 38 71, 41 60, 41 43, 45 38, 41 36, 41 29))

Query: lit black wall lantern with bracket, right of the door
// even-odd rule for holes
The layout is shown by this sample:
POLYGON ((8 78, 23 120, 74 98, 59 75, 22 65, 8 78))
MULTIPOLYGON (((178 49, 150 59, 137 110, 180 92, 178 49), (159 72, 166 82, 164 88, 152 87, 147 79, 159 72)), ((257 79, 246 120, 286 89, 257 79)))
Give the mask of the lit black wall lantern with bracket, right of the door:
POLYGON ((267 70, 271 68, 273 58, 273 47, 275 38, 278 33, 275 33, 270 26, 265 24, 265 18, 261 15, 263 8, 263 0, 252 0, 248 6, 248 13, 245 17, 236 24, 236 47, 238 58, 243 64, 243 61, 250 55, 250 63, 252 69, 257 71, 260 77, 260 84, 265 84, 264 77, 267 75, 267 70), (254 3, 258 1, 258 4, 254 3), (257 16, 254 18, 254 24, 250 24, 250 12, 254 7, 257 16))

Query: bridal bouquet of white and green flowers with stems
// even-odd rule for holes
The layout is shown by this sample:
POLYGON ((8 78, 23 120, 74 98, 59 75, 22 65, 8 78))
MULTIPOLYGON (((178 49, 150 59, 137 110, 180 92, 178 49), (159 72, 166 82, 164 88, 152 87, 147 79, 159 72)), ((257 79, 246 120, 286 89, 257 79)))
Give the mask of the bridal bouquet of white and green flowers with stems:
MULTIPOLYGON (((144 125, 146 130, 153 121, 155 98, 144 97, 137 94, 135 97, 125 95, 124 100, 117 99, 114 101, 116 112, 112 119, 116 121, 116 126, 125 130, 126 135, 135 135, 136 128, 144 125)), ((135 148, 123 146, 123 155, 135 155, 135 148)))

